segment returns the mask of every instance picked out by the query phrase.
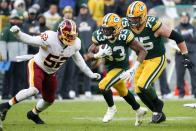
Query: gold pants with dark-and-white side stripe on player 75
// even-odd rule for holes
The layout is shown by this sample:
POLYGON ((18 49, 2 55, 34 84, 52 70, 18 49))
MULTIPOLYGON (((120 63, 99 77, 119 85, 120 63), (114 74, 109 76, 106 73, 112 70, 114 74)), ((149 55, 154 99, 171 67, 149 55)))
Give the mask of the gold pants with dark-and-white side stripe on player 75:
POLYGON ((159 78, 165 66, 165 55, 144 60, 135 72, 135 93, 141 93, 139 88, 147 89, 149 85, 159 78))

